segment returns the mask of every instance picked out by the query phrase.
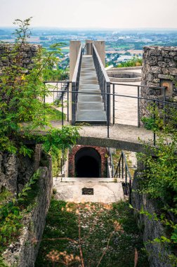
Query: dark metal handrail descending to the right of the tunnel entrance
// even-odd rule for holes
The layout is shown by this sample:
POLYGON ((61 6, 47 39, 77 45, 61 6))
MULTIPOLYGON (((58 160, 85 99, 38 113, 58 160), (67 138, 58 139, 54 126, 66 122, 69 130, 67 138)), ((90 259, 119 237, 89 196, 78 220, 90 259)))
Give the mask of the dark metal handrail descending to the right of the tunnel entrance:
POLYGON ((125 195, 129 195, 129 202, 131 203, 131 173, 129 171, 129 166, 126 162, 126 155, 124 151, 121 152, 121 156, 119 157, 119 162, 117 164, 117 169, 114 173, 114 178, 121 178, 124 179, 125 176, 125 195), (119 176, 119 177, 118 177, 119 176), (129 181, 128 181, 129 176, 129 181))

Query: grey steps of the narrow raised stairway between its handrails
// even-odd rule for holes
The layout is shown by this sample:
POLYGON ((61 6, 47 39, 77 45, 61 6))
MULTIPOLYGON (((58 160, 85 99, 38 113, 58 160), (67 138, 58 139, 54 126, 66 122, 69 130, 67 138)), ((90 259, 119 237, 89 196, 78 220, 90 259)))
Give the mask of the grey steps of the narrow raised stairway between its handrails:
POLYGON ((93 56, 82 56, 77 99, 76 122, 107 124, 93 56))

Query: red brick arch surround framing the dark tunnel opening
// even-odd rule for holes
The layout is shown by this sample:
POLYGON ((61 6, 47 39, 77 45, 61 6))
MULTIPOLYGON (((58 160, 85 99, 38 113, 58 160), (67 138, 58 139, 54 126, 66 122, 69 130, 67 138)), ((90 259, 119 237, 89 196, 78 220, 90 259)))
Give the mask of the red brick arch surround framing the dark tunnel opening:
POLYGON ((72 151, 69 154, 69 177, 74 177, 74 159, 76 153, 81 148, 94 148, 101 157, 101 177, 107 177, 107 157, 105 157, 107 153, 107 148, 101 148, 98 146, 92 146, 92 145, 75 145, 74 148, 72 148, 72 151))

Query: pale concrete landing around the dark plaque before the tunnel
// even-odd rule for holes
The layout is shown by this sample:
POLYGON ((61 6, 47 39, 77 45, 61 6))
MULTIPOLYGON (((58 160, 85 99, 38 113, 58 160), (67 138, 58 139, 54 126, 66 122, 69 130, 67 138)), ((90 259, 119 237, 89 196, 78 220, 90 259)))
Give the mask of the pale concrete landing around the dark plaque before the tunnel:
POLYGON ((122 183, 112 178, 53 178, 53 188, 58 200, 66 202, 113 203, 124 200, 122 183), (93 188, 93 195, 82 195, 82 188, 93 188))

